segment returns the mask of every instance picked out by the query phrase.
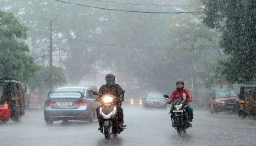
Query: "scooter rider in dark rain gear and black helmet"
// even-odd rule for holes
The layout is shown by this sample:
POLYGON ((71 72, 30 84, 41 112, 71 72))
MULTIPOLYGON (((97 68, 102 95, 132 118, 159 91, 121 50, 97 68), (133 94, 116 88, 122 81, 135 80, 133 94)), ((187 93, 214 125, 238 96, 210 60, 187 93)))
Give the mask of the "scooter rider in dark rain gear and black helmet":
MULTIPOLYGON (((122 102, 124 101, 124 96, 120 97, 120 92, 123 91, 123 89, 120 87, 120 85, 115 83, 115 76, 114 74, 107 74, 106 75, 106 84, 102 85, 101 88, 99 88, 98 96, 96 99, 96 102, 100 101, 100 98, 103 95, 111 94, 113 96, 117 97, 117 115, 118 115, 118 123, 120 129, 123 129, 123 123, 124 123, 124 114, 123 114, 123 108, 121 107, 122 102)), ((97 117, 99 121, 99 130, 103 130, 103 122, 102 117, 99 115, 99 107, 96 109, 97 117)))

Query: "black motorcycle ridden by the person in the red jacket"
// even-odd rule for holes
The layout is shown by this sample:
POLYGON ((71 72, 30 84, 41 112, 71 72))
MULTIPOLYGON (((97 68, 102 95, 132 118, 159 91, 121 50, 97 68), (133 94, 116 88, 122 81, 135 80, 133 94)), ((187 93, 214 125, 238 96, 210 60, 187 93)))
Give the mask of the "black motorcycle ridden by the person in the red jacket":
MULTIPOLYGON (((164 96, 165 98, 170 98, 168 95, 164 96)), ((172 120, 172 126, 177 130, 178 134, 186 134, 187 128, 189 128, 188 121, 188 109, 187 109, 188 100, 175 99, 172 102, 173 111, 170 111, 168 114, 175 114, 172 120)))

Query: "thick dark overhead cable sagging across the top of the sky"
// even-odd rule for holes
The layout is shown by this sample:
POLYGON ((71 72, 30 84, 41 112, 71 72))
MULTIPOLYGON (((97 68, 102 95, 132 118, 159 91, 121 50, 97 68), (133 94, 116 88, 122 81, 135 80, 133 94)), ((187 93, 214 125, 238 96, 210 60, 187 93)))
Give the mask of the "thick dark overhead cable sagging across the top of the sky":
POLYGON ((94 6, 89 6, 89 5, 83 5, 83 4, 78 4, 78 3, 70 3, 67 1, 63 1, 63 0, 55 0, 55 1, 59 1, 62 3, 67 3, 67 4, 73 4, 73 5, 80 5, 83 7, 89 7, 89 8, 96 8, 96 9, 104 9, 104 10, 109 10, 109 11, 122 11, 122 12, 137 12, 137 13, 149 13, 149 14, 191 14, 191 15, 199 15, 199 14, 203 14, 203 12, 148 12, 148 11, 131 11, 131 10, 123 10, 123 9, 110 9, 110 8, 101 8, 101 7, 94 7, 94 6))

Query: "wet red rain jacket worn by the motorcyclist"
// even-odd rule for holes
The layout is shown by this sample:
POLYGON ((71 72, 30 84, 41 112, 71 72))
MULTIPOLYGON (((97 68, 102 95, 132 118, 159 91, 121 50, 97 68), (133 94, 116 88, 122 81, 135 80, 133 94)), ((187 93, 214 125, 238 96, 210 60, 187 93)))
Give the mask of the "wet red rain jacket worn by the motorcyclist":
POLYGON ((174 90, 170 96, 170 102, 172 102, 174 99, 188 99, 189 101, 193 100, 192 94, 190 91, 186 88, 183 88, 182 90, 174 90))

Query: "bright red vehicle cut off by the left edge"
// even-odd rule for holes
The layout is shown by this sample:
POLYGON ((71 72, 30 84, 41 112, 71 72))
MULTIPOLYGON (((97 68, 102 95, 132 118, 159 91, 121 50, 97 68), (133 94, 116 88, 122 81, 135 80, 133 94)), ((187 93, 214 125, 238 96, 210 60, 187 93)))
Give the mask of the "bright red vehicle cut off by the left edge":
POLYGON ((0 122, 6 123, 10 119, 9 104, 5 101, 4 96, 0 93, 0 122))

